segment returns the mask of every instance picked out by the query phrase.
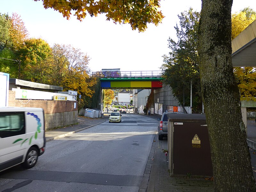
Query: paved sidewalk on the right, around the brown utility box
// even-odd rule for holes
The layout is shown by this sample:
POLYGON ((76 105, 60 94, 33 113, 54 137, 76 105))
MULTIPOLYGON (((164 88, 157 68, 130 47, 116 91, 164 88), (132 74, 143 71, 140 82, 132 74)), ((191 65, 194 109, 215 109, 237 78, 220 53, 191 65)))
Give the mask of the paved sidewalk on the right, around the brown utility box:
MULTIPOLYGON (((156 116, 150 116, 157 118, 156 116)), ((256 124, 255 120, 247 120, 247 138, 255 142, 256 146, 256 124)), ((248 142, 248 141, 247 141, 248 142)), ((169 177, 169 156, 165 156, 162 149, 168 148, 167 138, 156 141, 154 160, 148 181, 147 192, 213 192, 213 181, 204 179, 187 179, 186 177, 169 177)), ((256 171, 256 154, 250 148, 252 170, 256 171)), ((168 153, 169 155, 169 153, 168 153)), ((256 179, 256 172, 253 172, 256 179)), ((140 191, 139 191, 140 192, 140 191)), ((141 190, 141 192, 143 192, 141 190)))

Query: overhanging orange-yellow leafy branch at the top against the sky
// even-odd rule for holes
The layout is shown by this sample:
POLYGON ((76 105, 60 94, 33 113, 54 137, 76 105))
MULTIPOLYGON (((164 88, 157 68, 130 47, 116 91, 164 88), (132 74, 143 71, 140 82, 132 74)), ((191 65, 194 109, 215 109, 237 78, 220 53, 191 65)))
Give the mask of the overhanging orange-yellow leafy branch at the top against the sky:
MULTIPOLYGON (((38 1, 38 0, 34 0, 38 1)), ((90 16, 97 16, 100 13, 106 13, 107 20, 113 20, 115 23, 129 23, 132 30, 138 29, 143 32, 147 29, 148 23, 156 26, 164 18, 160 8, 160 0, 47 0, 43 1, 44 8, 52 8, 62 13, 63 17, 70 18, 71 12, 75 11, 77 20, 82 21, 86 17, 86 12, 90 16)))

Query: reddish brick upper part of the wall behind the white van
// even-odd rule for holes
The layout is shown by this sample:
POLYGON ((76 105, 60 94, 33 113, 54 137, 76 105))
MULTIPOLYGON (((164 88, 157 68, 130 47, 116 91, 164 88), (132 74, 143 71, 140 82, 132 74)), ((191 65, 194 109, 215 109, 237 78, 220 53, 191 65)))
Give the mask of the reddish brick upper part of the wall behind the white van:
POLYGON ((54 100, 15 100, 15 91, 9 91, 9 107, 35 107, 43 108, 44 114, 77 111, 77 101, 54 101, 54 100), (76 108, 74 103, 76 102, 76 108))

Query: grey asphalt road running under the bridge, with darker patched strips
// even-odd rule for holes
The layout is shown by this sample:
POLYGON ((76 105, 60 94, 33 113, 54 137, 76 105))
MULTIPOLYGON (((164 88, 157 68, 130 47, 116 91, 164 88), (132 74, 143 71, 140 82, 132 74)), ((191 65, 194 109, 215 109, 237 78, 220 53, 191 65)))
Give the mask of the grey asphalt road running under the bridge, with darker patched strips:
POLYGON ((138 192, 157 125, 148 116, 123 114, 122 123, 106 121, 49 141, 35 167, 1 172, 0 190, 138 192))

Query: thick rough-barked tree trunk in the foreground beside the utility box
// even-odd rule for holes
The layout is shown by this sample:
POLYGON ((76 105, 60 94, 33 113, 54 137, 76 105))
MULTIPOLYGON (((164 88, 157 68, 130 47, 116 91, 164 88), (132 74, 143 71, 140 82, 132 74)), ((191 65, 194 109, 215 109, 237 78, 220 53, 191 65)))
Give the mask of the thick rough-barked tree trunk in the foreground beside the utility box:
POLYGON ((201 90, 211 144, 215 191, 256 191, 231 60, 232 0, 202 0, 201 90))

